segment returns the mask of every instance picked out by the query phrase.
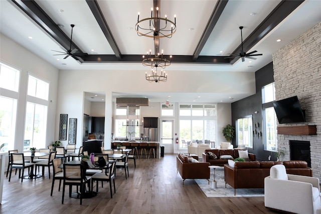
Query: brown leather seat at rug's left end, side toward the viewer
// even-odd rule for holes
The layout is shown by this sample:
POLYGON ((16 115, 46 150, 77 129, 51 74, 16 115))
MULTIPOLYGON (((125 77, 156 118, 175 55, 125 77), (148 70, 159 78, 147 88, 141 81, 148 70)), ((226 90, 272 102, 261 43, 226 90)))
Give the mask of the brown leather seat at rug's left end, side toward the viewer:
MULTIPOLYGON (((192 157, 198 160, 197 156, 192 157)), ((209 165, 207 162, 190 162, 188 157, 181 153, 176 157, 176 167, 183 178, 183 185, 185 179, 207 179, 210 184, 209 165)))

